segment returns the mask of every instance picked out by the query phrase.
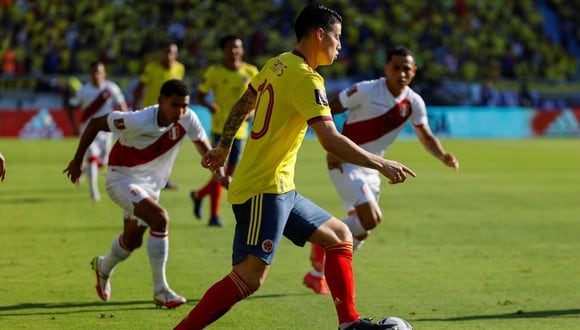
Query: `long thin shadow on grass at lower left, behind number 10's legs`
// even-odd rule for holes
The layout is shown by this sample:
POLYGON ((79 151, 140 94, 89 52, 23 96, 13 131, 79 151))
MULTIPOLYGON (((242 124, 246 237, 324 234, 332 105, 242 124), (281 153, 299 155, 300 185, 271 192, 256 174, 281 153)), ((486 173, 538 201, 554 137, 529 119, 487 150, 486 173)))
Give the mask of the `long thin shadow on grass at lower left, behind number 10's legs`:
MULTIPOLYGON (((269 294, 250 296, 246 299, 280 298, 287 296, 300 296, 305 294, 269 294)), ((187 305, 194 306, 199 299, 187 299, 187 305)), ((187 306, 186 305, 186 306, 187 306)), ((129 310, 161 309, 152 300, 140 301, 91 301, 91 302, 66 302, 66 303, 20 303, 15 305, 0 306, 0 316, 29 316, 29 315, 66 315, 78 313, 108 313, 129 310), (44 312, 43 312, 44 311, 44 312)), ((163 308, 165 309, 165 308, 163 308)))

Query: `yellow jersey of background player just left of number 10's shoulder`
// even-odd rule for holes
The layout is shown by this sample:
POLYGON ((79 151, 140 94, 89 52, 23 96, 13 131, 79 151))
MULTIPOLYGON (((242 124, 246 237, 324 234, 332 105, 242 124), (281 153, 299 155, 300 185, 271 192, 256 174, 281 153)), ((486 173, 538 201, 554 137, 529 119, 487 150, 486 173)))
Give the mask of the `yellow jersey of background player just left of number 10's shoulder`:
MULTIPOLYGON (((256 74, 258 68, 248 63, 243 63, 239 70, 231 70, 219 64, 212 65, 205 71, 198 90, 204 94, 213 91, 214 102, 220 107, 220 111, 211 117, 212 133, 221 134, 233 105, 244 94, 256 74)), ((244 121, 235 138, 245 139, 247 134, 248 122, 244 121)))

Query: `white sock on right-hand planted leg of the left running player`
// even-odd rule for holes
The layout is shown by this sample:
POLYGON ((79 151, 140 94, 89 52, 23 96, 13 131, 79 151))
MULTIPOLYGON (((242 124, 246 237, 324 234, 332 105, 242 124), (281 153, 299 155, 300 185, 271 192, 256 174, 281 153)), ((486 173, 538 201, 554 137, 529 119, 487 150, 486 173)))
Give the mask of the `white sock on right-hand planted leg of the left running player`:
POLYGON ((153 276, 153 292, 158 293, 163 288, 169 288, 165 277, 165 264, 169 254, 169 238, 167 232, 159 233, 149 231, 147 239, 147 254, 151 264, 151 275, 153 276))

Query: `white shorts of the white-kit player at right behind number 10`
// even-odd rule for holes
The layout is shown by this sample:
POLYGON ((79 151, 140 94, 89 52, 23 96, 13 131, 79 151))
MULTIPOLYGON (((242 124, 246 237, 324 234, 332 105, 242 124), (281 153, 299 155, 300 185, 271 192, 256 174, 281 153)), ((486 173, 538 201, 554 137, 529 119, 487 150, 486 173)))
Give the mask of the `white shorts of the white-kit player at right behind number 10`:
POLYGON ((330 179, 338 191, 346 212, 360 204, 379 200, 381 178, 379 172, 349 163, 329 171, 330 179))

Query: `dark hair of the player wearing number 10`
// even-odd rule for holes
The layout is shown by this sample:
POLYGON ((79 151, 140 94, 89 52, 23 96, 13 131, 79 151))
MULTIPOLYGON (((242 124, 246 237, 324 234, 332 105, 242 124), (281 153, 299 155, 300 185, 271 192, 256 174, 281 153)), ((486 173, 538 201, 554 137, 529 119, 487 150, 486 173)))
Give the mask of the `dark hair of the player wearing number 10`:
POLYGON ((294 22, 296 39, 300 41, 318 28, 330 31, 336 23, 342 23, 342 17, 336 11, 320 3, 311 3, 302 9, 294 22))

